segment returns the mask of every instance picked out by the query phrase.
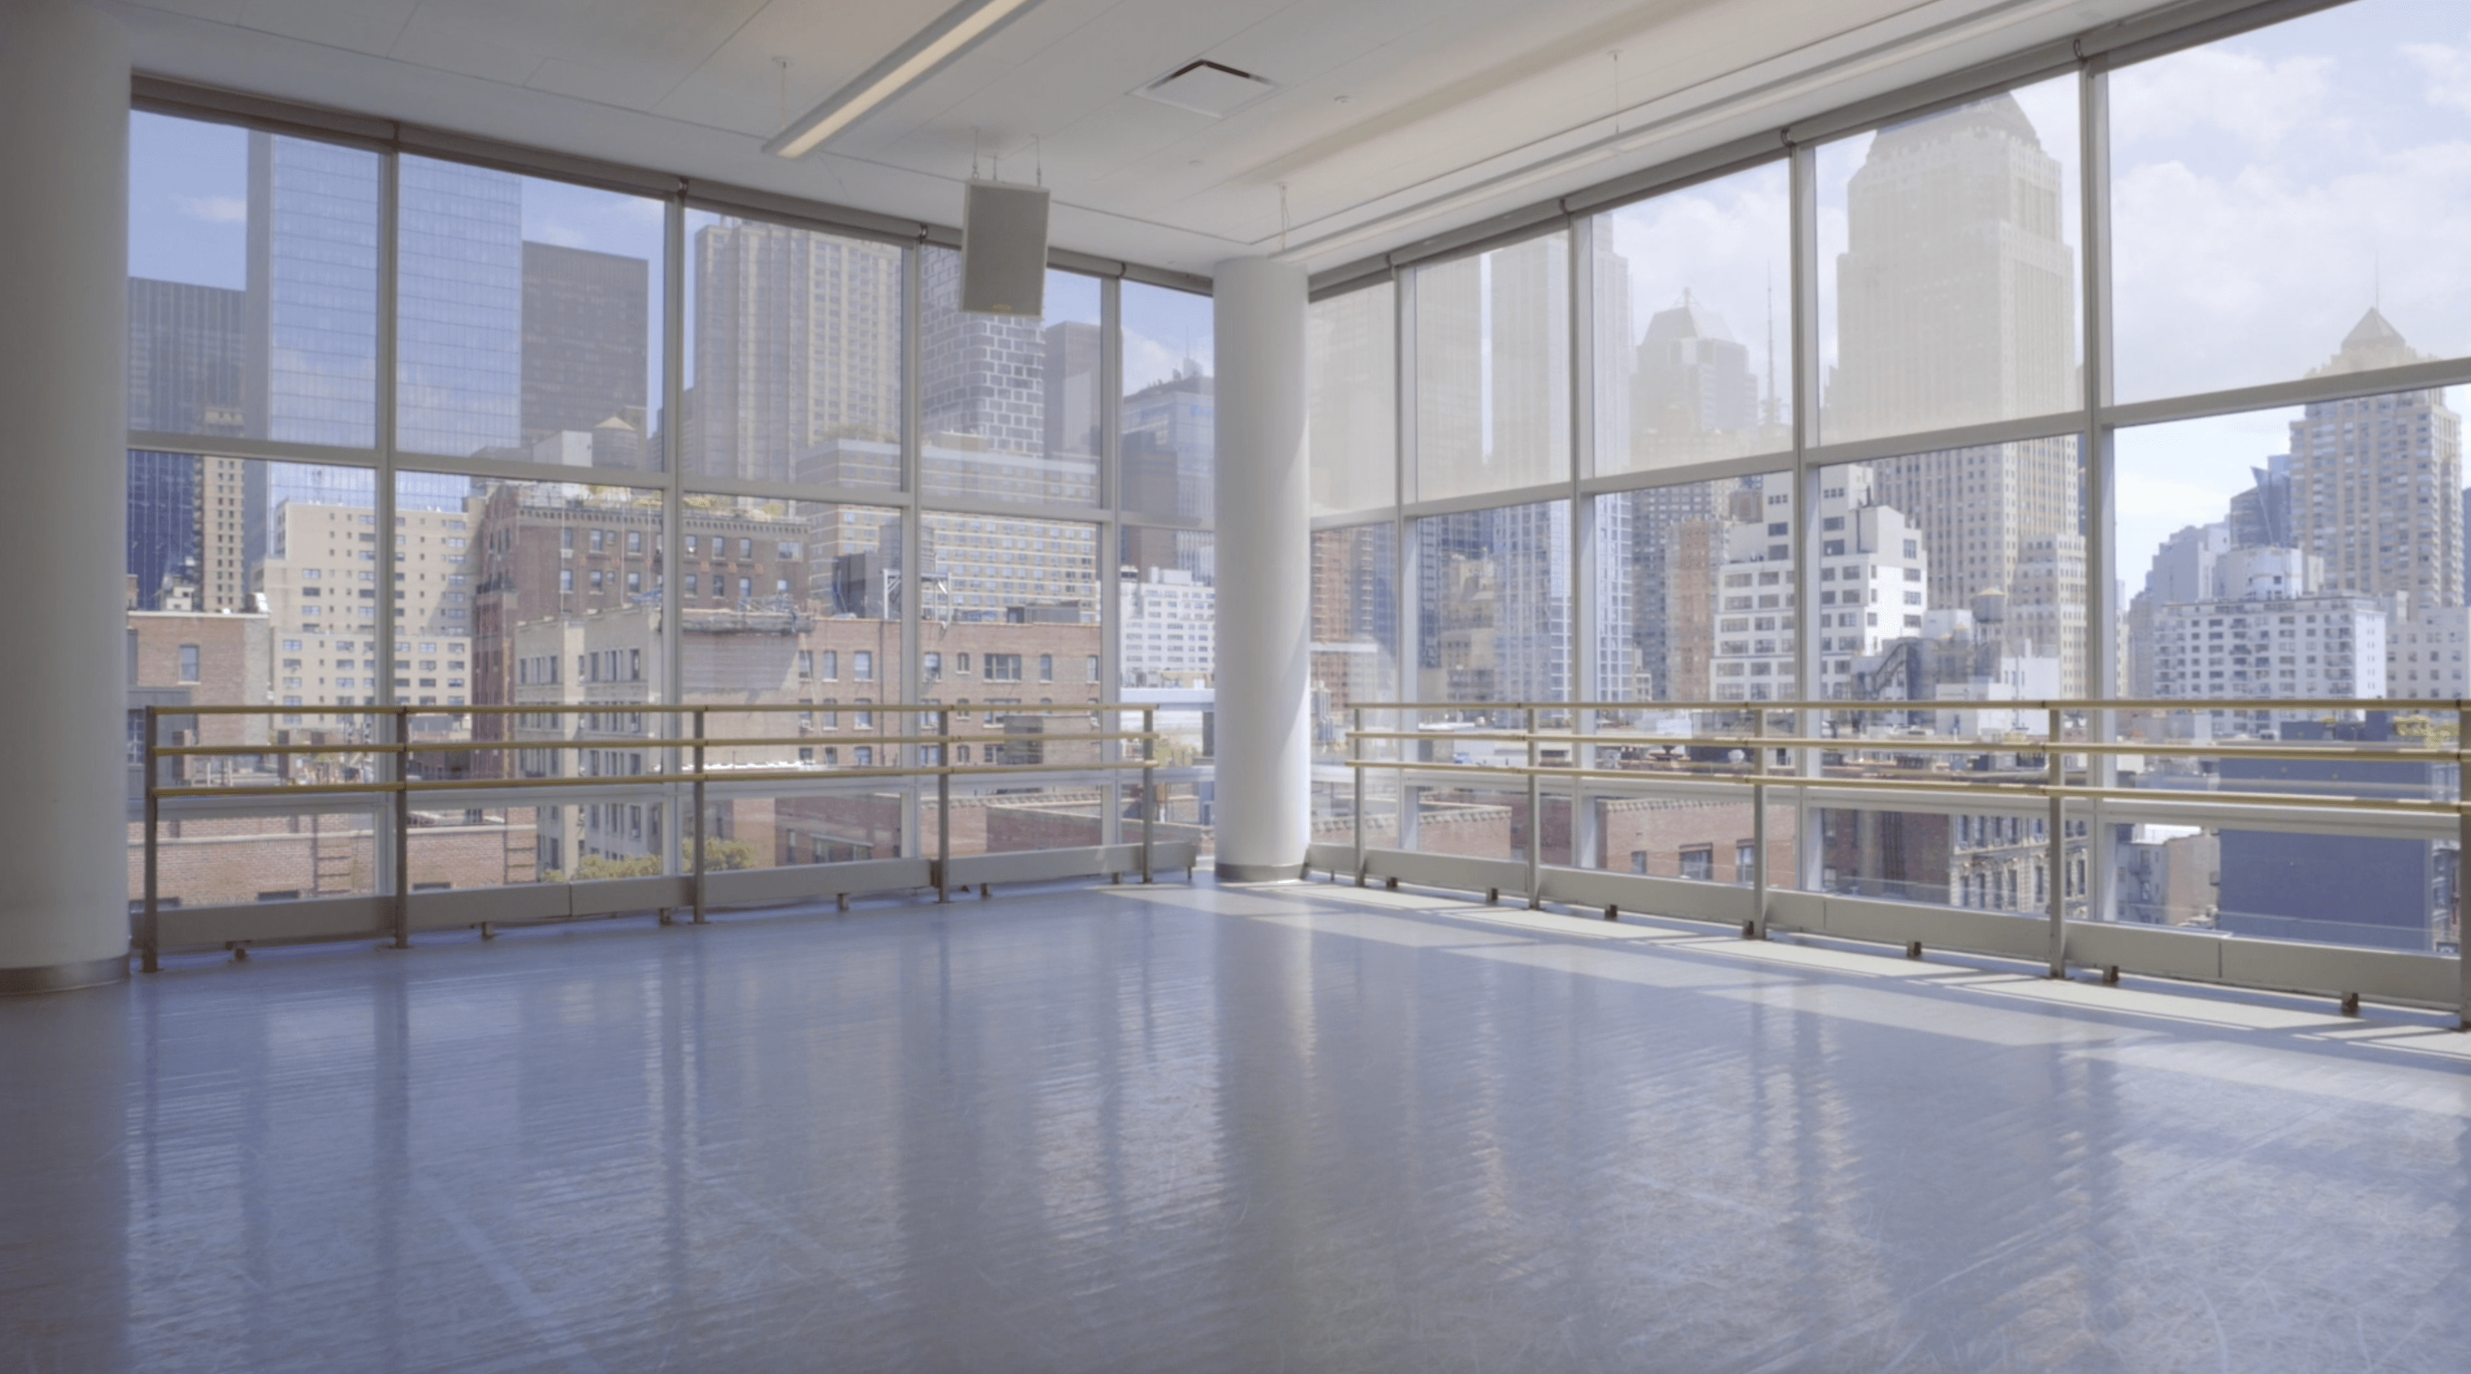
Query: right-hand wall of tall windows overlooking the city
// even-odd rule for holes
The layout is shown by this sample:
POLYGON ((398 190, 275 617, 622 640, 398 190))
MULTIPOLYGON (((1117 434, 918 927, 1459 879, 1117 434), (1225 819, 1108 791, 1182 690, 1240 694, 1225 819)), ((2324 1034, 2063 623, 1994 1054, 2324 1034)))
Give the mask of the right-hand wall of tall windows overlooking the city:
MULTIPOLYGON (((2434 7, 2357 0, 2202 37, 1935 94, 1315 301, 1322 820, 1354 806, 1342 761, 1364 682, 1423 704, 1401 714, 1436 734, 1413 756, 1460 764, 1490 746, 1441 734, 1505 719, 1480 707, 1581 699, 1604 707, 1569 712, 1574 729, 1678 734, 1747 722, 1735 704, 1814 702, 1809 729, 1952 749, 1814 751, 1809 769, 1915 778, 2044 769, 2048 712, 2002 699, 2160 702, 2071 712, 2068 739, 2449 739, 2449 707, 2412 702, 2471 697, 2471 195, 2444 171, 2471 148, 2461 35, 2434 7), (1394 628, 1357 608, 1376 583, 1396 588, 1394 628)), ((1591 751, 1641 773, 1710 764, 1591 751)), ((2459 786, 2399 759, 2360 776, 2160 754, 2068 769, 2177 793, 2459 786)), ((1816 803, 1772 818, 1794 855, 1769 872, 2456 949, 2451 840, 2293 838, 2328 848, 2313 872, 2397 875, 2375 912, 2320 919, 2345 895, 2296 882, 2261 833, 2068 806, 2056 872, 2046 818, 1816 803)), ((1436 848, 1418 816, 1376 843, 1436 848)), ((1525 833, 1520 803, 1465 853, 1517 855, 1525 833)), ((1616 843, 1601 813, 1594 840, 1554 835, 1547 820, 1547 862, 1745 872, 1715 830, 1670 855, 1616 843)))

